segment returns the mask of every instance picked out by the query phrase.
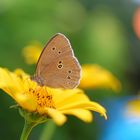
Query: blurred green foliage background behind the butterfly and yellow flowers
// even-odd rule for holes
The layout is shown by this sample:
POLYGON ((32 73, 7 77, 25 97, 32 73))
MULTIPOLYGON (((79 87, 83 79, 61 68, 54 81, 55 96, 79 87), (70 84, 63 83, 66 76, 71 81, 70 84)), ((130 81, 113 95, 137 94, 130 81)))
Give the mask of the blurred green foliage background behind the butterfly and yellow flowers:
MULTIPOLYGON (((139 6, 139 0, 0 0, 0 66, 33 74, 35 66, 24 62, 23 47, 32 41, 45 45, 61 32, 70 39, 81 64, 99 64, 122 83, 117 94, 87 90, 91 99, 106 107, 106 100, 135 96, 140 89, 140 41, 133 16, 139 6)), ((17 110, 9 109, 13 100, 0 93, 0 139, 18 140, 24 120, 17 110)), ((100 139, 105 120, 98 114, 91 124, 68 119, 56 128, 52 140, 100 139)), ((33 129, 30 140, 38 139, 44 125, 33 129)))

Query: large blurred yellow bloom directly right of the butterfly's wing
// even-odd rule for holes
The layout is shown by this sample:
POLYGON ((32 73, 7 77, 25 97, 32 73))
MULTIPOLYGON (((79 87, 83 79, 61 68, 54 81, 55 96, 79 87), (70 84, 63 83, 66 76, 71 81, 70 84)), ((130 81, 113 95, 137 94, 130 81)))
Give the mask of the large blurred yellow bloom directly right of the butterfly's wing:
POLYGON ((83 65, 80 88, 111 88, 119 91, 121 84, 113 74, 99 65, 83 65))

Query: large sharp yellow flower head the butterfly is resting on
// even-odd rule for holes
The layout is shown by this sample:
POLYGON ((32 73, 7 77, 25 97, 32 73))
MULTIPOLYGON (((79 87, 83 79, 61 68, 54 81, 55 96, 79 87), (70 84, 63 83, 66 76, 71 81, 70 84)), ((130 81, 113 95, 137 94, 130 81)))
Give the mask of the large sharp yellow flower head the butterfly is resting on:
POLYGON ((24 110, 52 118, 58 125, 66 121, 66 115, 74 115, 85 122, 91 122, 91 111, 99 112, 107 118, 106 110, 98 103, 90 101, 82 90, 41 87, 20 69, 10 72, 0 68, 0 88, 24 110))

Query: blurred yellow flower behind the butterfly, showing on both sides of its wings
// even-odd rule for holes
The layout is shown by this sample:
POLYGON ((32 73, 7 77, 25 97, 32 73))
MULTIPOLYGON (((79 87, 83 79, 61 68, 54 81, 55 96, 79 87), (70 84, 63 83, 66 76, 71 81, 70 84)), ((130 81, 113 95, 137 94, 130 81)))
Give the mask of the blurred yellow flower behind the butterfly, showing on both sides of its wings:
MULTIPOLYGON (((41 54, 41 45, 29 45, 23 49, 23 56, 28 64, 35 64, 41 54)), ((80 88, 110 88, 120 91, 120 81, 108 70, 99 65, 83 65, 80 88)))

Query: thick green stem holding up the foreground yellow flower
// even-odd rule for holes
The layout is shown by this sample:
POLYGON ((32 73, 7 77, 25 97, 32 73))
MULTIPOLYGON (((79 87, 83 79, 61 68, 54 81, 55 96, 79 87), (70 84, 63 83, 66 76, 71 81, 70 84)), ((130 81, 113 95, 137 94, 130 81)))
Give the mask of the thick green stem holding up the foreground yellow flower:
POLYGON ((31 130, 36 125, 37 125, 37 122, 31 122, 31 121, 25 120, 25 124, 24 124, 24 128, 22 130, 20 140, 27 140, 31 130))

